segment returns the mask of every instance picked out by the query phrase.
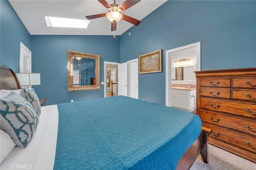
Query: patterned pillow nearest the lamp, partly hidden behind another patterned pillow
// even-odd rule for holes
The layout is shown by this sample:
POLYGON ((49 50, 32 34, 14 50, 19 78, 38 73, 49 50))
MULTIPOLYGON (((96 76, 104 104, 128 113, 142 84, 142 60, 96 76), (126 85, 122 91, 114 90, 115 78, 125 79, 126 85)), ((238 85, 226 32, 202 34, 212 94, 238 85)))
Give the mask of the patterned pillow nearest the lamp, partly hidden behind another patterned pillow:
POLYGON ((25 99, 27 99, 27 101, 29 103, 31 103, 31 105, 34 107, 37 115, 40 116, 41 105, 40 105, 40 101, 39 101, 36 93, 33 90, 26 88, 26 89, 22 89, 22 91, 20 92, 20 95, 22 97, 24 97, 25 99))

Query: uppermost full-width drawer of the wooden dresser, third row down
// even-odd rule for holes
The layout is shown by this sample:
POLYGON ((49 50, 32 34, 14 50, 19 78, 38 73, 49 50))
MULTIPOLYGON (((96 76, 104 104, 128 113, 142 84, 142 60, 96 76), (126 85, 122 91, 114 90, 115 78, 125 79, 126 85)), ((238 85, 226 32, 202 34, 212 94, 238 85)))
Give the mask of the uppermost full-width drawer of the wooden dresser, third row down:
POLYGON ((256 119, 255 103, 243 103, 239 101, 227 101, 223 99, 200 98, 200 108, 212 111, 220 111, 234 115, 252 117, 256 119))

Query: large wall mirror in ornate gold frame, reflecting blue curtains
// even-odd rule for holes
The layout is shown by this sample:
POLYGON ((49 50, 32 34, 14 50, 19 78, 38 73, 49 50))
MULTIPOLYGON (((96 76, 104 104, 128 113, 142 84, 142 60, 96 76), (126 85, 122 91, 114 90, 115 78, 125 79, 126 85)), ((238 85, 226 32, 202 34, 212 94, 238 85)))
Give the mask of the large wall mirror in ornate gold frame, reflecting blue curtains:
POLYGON ((100 55, 68 50, 68 91, 100 89, 100 55))

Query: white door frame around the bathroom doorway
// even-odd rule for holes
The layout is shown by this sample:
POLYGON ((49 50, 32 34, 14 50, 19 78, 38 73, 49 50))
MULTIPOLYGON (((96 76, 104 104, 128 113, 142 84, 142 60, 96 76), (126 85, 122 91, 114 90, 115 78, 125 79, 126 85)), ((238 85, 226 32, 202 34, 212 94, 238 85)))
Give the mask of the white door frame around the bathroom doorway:
POLYGON ((165 51, 165 105, 172 107, 172 80, 171 80, 171 53, 176 51, 181 51, 188 48, 197 48, 197 64, 196 64, 196 71, 201 70, 201 42, 192 43, 189 45, 184 45, 182 47, 174 48, 165 51))

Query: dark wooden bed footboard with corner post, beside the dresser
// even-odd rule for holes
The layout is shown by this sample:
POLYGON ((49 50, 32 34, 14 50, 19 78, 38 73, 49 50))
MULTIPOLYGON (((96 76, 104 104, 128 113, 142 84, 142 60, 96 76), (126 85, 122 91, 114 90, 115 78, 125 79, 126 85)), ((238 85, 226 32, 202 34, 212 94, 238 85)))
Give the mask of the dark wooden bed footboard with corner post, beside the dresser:
POLYGON ((176 170, 189 170, 199 154, 201 154, 202 160, 206 164, 208 163, 208 135, 211 131, 210 128, 202 127, 201 133, 196 141, 180 158, 176 170))

